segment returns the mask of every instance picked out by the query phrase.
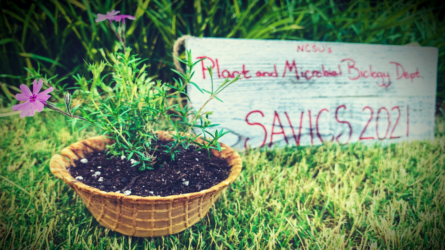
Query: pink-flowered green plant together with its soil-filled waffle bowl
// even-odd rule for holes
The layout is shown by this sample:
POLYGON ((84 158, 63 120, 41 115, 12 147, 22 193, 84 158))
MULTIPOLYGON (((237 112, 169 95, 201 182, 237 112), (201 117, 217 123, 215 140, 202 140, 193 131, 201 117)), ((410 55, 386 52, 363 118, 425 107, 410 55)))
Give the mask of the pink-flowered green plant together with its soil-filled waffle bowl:
POLYGON ((147 65, 141 66, 143 60, 125 46, 125 18, 134 17, 117 13, 98 14, 96 21, 109 20, 123 52, 105 55, 99 50, 105 62, 88 65, 93 73, 89 82, 75 77, 76 91, 65 95, 66 111, 48 102, 53 87, 39 93, 42 79, 34 80, 32 92, 20 85, 23 93, 16 99, 24 102, 12 109, 21 110, 24 117, 47 107, 72 118, 73 130, 78 123, 82 123, 78 131, 91 125, 99 128, 99 136, 66 147, 61 155, 53 155, 49 166, 79 194, 101 225, 140 237, 178 233, 198 222, 241 171, 239 154, 218 142, 227 131, 208 132, 215 125, 208 119, 211 112, 203 111, 240 76, 225 79, 217 88, 212 80, 211 90, 201 90, 190 81, 199 61, 192 62, 187 51, 186 60, 177 58, 187 70, 175 71, 181 77, 175 84, 153 81, 145 72, 147 65), (113 67, 109 83, 101 77, 107 66, 113 67), (188 84, 210 95, 199 110, 182 107, 178 101, 186 96, 188 84), (73 97, 76 102, 88 101, 73 105, 73 97), (168 126, 157 130, 162 121, 168 126))

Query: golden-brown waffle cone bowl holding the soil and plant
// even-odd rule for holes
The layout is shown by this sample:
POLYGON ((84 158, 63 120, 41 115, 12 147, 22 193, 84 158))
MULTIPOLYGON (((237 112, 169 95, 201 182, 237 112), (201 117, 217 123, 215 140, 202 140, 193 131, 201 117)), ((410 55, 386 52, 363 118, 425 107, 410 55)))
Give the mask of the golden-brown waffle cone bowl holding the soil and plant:
MULTIPOLYGON (((165 131, 156 131, 161 141, 171 141, 172 135, 165 131)), ((203 143, 202 139, 196 141, 203 143)), ((230 185, 241 172, 242 160, 231 147, 222 152, 212 150, 218 158, 227 159, 231 173, 227 179, 195 193, 170 195, 166 197, 142 197, 105 192, 87 186, 73 178, 67 170, 74 166, 74 160, 87 157, 93 152, 105 150, 111 139, 95 136, 73 143, 61 151, 62 155, 53 155, 49 163, 51 172, 69 185, 85 202, 94 218, 106 228, 121 234, 138 237, 156 237, 176 234, 201 220, 221 192, 230 185)))

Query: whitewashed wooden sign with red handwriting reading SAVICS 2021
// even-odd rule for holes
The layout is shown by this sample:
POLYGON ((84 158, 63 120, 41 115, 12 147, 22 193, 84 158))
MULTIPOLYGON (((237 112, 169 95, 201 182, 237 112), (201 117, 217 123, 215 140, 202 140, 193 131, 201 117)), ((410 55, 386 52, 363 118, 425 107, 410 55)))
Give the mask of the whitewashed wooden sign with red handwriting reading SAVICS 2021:
MULTIPOLYGON (((207 104, 231 147, 432 139, 437 48, 190 38, 193 82, 243 78, 207 104)), ((192 107, 208 99, 189 85, 192 107)))

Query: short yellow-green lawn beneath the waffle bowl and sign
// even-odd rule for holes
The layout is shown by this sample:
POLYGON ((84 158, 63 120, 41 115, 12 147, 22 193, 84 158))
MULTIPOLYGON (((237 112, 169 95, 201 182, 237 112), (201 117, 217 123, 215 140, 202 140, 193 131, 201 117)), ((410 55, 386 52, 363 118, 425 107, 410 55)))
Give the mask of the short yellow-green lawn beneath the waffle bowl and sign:
POLYGON ((49 159, 72 135, 42 112, 0 118, 0 249, 443 249, 445 120, 433 141, 252 150, 191 228, 159 238, 100 226, 49 159))

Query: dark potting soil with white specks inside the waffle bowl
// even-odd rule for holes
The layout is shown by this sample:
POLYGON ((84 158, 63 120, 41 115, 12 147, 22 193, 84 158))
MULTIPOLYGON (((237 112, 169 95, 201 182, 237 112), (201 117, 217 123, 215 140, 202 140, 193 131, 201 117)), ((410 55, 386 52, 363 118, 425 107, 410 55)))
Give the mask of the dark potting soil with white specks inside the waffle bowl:
POLYGON ((230 174, 231 166, 226 159, 219 159, 207 151, 182 149, 178 158, 170 161, 170 156, 163 153, 162 144, 156 151, 156 160, 162 165, 154 170, 139 171, 139 166, 131 167, 130 159, 101 153, 74 161, 76 167, 70 167, 69 173, 82 183, 106 192, 124 193, 139 196, 169 196, 186 194, 208 189, 230 174), (81 176, 81 177, 79 177, 81 176))

